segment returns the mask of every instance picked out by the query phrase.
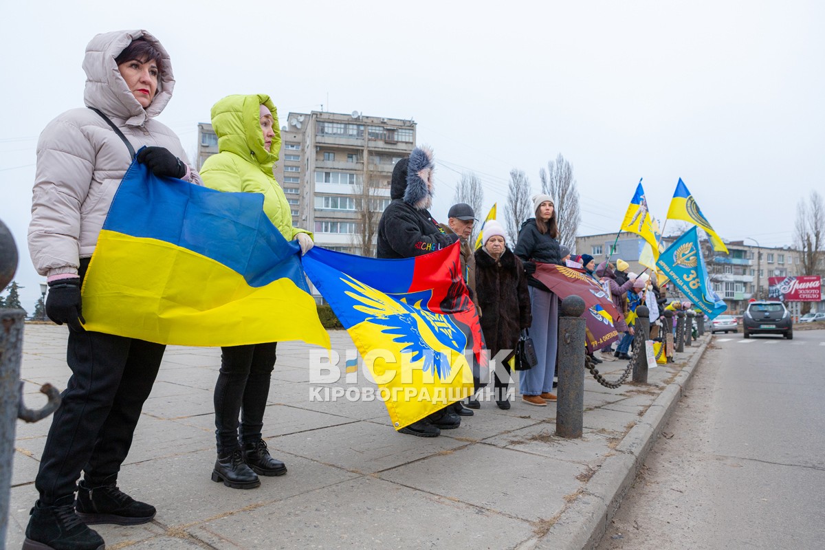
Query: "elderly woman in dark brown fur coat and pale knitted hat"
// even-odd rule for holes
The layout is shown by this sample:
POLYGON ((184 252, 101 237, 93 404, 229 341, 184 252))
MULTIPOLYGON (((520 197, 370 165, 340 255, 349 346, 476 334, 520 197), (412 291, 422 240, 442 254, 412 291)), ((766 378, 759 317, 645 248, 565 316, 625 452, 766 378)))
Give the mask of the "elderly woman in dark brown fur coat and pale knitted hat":
MULTIPOLYGON (((500 350, 515 349, 519 332, 530 327, 530 292, 521 261, 507 248, 500 223, 492 220, 485 224, 482 242, 483 246, 475 251, 476 303, 484 312, 481 330, 492 358, 500 350)), ((497 364, 495 398, 498 408, 504 410, 510 408, 509 378, 510 366, 504 362, 497 364), (507 376, 503 371, 507 371, 507 376)))

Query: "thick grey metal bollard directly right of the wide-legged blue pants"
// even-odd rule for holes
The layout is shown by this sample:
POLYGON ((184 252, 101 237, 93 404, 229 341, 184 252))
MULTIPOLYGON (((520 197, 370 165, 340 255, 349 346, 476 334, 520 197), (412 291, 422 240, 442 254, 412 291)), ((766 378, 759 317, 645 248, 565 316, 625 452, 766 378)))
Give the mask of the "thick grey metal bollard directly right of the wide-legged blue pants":
POLYGON ((559 396, 556 435, 582 437, 584 423, 584 300, 568 296, 559 316, 559 396))

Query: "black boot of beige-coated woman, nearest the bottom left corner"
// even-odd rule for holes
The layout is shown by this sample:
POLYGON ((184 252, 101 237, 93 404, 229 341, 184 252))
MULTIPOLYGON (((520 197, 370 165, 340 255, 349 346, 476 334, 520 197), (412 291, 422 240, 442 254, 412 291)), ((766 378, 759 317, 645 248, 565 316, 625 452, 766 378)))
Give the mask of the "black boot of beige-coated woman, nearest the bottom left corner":
POLYGON ((37 501, 31 509, 23 550, 103 550, 106 544, 74 511, 74 496, 64 496, 54 505, 37 501))

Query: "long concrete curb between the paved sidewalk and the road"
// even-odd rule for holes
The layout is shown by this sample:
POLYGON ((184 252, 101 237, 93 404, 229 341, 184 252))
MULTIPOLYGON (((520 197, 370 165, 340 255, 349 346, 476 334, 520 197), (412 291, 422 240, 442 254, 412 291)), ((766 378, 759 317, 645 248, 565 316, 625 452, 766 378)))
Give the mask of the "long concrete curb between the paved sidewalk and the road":
POLYGON ((616 454, 605 460, 587 482, 582 494, 563 510, 553 527, 532 548, 592 550, 598 545, 681 399, 712 336, 707 335, 690 362, 676 374, 672 383, 667 384, 639 422, 621 440, 615 449, 616 454))

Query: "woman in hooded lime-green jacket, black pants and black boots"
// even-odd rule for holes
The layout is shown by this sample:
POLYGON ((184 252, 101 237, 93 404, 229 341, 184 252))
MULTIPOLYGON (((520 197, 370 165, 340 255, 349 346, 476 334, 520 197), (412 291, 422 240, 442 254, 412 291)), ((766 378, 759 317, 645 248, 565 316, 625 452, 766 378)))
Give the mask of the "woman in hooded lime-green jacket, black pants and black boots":
MULTIPOLYGON (((305 229, 292 226, 292 213, 272 167, 278 160, 281 132, 269 96, 227 96, 212 107, 212 128, 219 153, 200 169, 204 185, 229 192, 261 193, 263 210, 287 240, 297 240, 301 254, 313 247, 305 229)), ((272 458, 262 439, 263 414, 275 368, 276 342, 221 348, 214 387, 214 424, 218 459, 212 481, 226 487, 261 485, 257 474, 281 476, 286 466, 272 458), (238 415, 243 414, 243 421, 238 415)))

